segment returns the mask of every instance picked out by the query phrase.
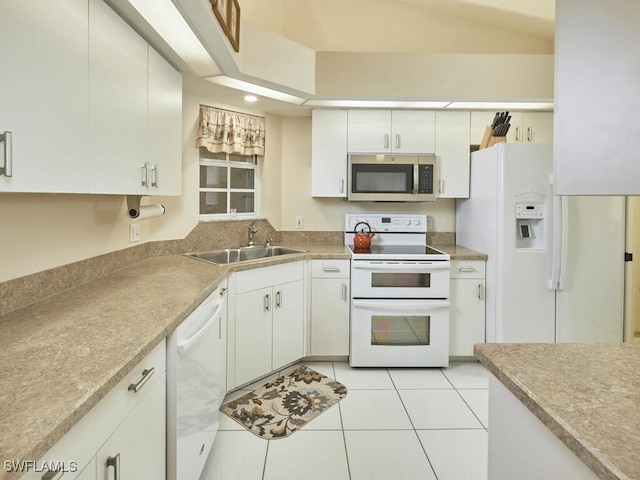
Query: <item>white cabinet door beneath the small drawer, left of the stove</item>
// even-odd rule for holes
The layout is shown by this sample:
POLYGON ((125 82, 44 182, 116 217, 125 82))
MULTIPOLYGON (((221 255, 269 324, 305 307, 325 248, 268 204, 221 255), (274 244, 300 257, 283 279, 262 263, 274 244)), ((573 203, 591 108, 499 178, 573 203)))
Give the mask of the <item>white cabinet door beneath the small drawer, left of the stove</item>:
POLYGON ((311 355, 349 355, 349 279, 311 284, 311 355))

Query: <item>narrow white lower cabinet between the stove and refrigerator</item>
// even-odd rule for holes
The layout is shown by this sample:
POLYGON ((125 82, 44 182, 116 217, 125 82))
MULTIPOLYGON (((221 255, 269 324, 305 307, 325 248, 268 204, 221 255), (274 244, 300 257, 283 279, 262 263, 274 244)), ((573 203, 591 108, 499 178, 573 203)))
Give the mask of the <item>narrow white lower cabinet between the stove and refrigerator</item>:
POLYGON ((449 355, 473 356, 485 340, 485 261, 452 260, 449 355))

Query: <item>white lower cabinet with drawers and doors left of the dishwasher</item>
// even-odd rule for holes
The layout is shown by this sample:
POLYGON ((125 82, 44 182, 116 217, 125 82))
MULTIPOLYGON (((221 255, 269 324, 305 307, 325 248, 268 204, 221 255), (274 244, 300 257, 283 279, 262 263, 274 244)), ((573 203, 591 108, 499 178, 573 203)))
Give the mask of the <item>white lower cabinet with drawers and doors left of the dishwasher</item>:
POLYGON ((160 342, 21 480, 164 479, 165 348, 160 342))

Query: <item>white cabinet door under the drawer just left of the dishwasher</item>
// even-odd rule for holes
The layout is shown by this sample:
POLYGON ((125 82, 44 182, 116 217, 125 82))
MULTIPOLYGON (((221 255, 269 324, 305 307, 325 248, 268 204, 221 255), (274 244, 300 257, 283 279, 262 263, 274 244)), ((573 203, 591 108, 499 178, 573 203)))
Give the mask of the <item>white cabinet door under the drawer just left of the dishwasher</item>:
POLYGON ((165 374, 125 417, 98 450, 97 478, 166 478, 165 374), (117 464, 109 466, 110 464, 117 464))

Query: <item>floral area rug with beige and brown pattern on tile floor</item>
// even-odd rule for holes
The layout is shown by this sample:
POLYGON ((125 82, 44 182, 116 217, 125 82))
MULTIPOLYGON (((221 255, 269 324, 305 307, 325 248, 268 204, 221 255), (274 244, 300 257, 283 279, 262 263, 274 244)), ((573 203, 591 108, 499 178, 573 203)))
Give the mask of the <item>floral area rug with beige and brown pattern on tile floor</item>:
POLYGON ((344 385, 303 365, 225 403, 220 411, 269 440, 291 435, 346 395, 344 385))

